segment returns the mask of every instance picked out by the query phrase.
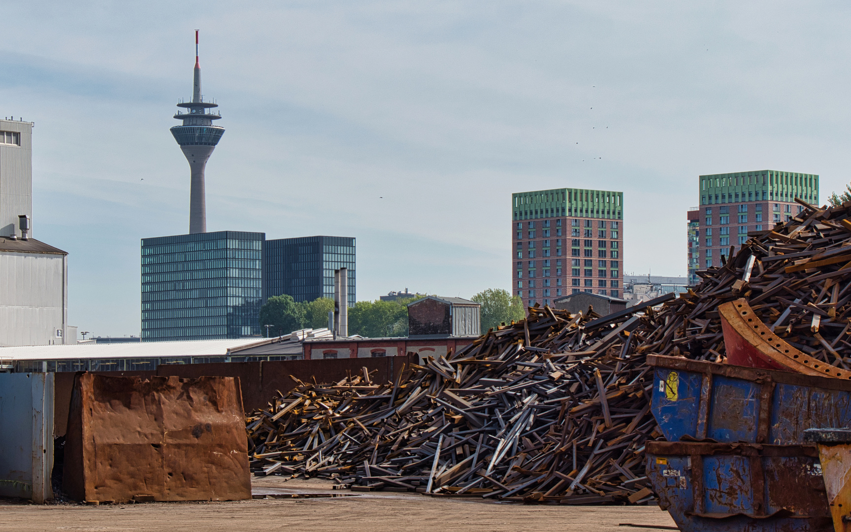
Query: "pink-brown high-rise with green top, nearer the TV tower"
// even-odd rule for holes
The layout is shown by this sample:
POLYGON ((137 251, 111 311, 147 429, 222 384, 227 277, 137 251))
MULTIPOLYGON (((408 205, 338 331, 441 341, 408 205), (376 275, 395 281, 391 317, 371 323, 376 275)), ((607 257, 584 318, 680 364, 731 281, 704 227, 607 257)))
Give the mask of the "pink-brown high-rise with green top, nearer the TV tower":
POLYGON ((511 195, 511 278, 523 305, 622 295, 623 203, 623 192, 581 188, 511 195))

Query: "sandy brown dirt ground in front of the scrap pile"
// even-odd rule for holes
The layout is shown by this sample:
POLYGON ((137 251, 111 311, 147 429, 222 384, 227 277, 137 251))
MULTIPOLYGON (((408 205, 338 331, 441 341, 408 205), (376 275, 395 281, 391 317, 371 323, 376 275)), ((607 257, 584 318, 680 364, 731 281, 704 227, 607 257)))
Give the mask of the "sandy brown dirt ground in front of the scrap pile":
MULTIPOLYGON (((351 494, 330 484, 254 478, 255 495, 351 494)), ((650 530, 619 526, 673 526, 658 506, 529 506, 481 499, 440 499, 413 493, 377 492, 305 499, 234 502, 172 502, 105 506, 25 505, 0 501, 0 531, 43 532, 590 532, 650 530)))

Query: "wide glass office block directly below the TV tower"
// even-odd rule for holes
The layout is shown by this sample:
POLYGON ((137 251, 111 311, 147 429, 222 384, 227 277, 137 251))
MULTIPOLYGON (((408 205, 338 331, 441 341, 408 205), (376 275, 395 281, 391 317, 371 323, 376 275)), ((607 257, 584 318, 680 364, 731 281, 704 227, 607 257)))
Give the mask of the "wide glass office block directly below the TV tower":
POLYGON ((265 241, 234 231, 143 238, 142 341, 260 336, 265 241))

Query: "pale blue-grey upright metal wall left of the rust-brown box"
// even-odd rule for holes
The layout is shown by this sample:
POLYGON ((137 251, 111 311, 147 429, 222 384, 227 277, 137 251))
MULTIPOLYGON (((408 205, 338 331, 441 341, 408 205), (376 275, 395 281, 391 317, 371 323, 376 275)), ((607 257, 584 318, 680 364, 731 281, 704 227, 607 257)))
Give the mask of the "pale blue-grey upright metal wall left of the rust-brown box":
POLYGON ((54 374, 0 374, 0 426, 0 496, 53 499, 54 374))

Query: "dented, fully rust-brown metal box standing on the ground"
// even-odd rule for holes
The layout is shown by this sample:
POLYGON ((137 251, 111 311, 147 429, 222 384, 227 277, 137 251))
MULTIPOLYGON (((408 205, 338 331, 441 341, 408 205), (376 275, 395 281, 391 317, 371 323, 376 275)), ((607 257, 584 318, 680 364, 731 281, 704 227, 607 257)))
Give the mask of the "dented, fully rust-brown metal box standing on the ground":
POLYGON ((250 499, 239 380, 77 374, 63 489, 77 501, 250 499))

